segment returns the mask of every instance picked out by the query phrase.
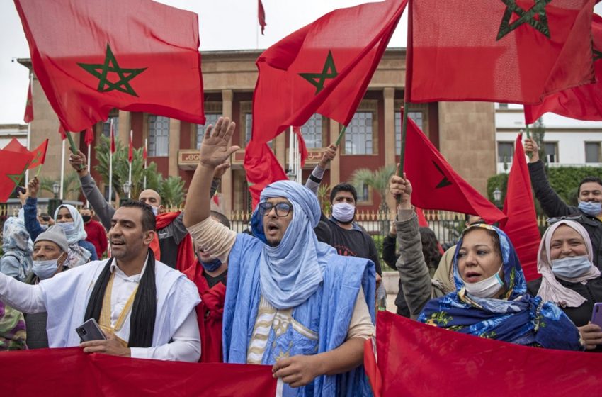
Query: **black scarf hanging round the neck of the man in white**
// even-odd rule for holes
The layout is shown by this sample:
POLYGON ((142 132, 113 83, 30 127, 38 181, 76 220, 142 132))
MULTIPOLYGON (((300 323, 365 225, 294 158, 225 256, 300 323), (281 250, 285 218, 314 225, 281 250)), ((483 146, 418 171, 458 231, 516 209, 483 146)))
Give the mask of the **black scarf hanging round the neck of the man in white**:
MULTIPOLYGON (((110 258, 94 284, 94 289, 88 301, 84 321, 94 318, 97 322, 101 317, 103 299, 110 279, 110 258)), ((134 304, 130 315, 130 340, 127 347, 151 347, 154 333, 154 320, 157 317, 157 285, 154 274, 154 254, 149 249, 147 267, 142 274, 134 304)))

